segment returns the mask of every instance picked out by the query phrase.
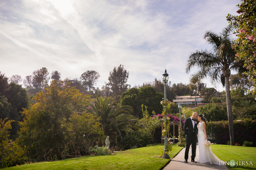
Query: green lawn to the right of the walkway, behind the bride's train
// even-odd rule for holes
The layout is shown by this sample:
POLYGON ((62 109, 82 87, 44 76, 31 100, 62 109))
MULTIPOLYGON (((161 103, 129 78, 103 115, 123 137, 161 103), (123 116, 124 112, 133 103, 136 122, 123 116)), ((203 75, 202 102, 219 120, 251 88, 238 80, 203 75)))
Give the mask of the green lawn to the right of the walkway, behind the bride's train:
POLYGON ((226 165, 229 169, 232 170, 242 170, 242 169, 256 169, 256 148, 255 147, 242 147, 242 146, 230 146, 230 145, 211 145, 212 152, 219 157, 219 159, 230 161, 231 159, 238 161, 238 165, 231 167, 226 165), (239 161, 240 165, 239 165, 239 161), (242 165, 242 161, 245 161, 242 165), (247 165, 252 161, 253 165, 247 165))

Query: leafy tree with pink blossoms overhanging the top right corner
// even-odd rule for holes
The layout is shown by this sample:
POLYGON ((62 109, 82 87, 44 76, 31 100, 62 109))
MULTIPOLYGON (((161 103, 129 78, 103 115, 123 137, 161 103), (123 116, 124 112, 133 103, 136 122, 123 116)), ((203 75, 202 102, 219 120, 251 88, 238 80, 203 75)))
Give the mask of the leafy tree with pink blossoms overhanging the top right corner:
POLYGON ((256 92, 256 2, 255 0, 244 0, 240 5, 237 5, 239 15, 232 16, 228 14, 227 20, 230 21, 230 26, 235 28, 234 34, 237 39, 232 45, 236 50, 237 59, 244 61, 244 68, 247 71, 244 73, 250 77, 254 87, 252 91, 256 92))

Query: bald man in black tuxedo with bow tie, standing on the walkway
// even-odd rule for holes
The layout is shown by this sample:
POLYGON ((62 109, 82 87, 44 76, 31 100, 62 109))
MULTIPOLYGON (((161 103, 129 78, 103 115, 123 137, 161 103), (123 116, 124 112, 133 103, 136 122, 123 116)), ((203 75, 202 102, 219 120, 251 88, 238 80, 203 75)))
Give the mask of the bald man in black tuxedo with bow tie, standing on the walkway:
POLYGON ((192 155, 191 155, 191 162, 196 163, 195 157, 196 157, 196 140, 197 140, 197 122, 196 119, 198 117, 198 114, 196 112, 193 113, 193 115, 189 118, 186 118, 184 122, 184 133, 186 136, 186 150, 185 150, 185 161, 188 162, 188 152, 189 147, 192 143, 191 149, 192 149, 192 155))

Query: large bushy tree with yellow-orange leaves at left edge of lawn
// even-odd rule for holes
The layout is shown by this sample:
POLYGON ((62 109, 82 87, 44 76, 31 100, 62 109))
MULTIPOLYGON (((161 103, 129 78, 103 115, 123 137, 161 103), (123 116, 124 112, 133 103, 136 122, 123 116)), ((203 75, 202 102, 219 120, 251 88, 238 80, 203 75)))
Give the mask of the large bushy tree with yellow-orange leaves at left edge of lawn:
POLYGON ((89 147, 102 136, 100 118, 77 111, 91 102, 91 96, 57 80, 45 90, 34 96, 35 104, 24 109, 24 121, 19 122, 17 142, 26 146, 30 161, 89 154, 89 147))

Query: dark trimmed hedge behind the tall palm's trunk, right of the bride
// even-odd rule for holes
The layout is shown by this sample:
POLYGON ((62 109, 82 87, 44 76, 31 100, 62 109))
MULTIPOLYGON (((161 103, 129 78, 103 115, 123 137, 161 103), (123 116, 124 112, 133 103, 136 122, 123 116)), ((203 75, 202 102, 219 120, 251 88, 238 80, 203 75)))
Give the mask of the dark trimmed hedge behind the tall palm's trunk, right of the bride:
MULTIPOLYGON (((244 119, 233 121, 234 143, 242 145, 244 141, 253 142, 252 146, 256 146, 256 121, 244 119)), ((217 144, 227 144, 230 141, 228 121, 208 122, 207 134, 212 129, 214 139, 217 144)))

